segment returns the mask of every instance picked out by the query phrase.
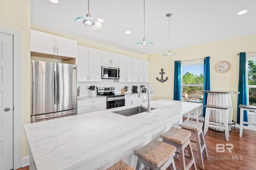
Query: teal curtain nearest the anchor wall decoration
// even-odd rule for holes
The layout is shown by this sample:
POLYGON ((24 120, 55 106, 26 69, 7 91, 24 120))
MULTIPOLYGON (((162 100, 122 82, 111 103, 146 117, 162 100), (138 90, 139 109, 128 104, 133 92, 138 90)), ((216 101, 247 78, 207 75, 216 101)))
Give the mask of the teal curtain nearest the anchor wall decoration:
POLYGON ((174 61, 173 100, 179 100, 180 101, 180 61, 174 61))

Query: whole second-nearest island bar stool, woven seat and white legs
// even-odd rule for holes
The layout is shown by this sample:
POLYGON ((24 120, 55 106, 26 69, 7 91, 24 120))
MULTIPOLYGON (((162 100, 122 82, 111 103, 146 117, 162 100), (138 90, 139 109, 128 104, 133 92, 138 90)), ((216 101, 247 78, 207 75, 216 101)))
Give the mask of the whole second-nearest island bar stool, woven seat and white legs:
POLYGON ((173 155, 176 148, 157 139, 134 150, 134 154, 138 156, 136 170, 140 169, 140 165, 144 164, 152 170, 166 170, 168 166, 176 170, 173 155))

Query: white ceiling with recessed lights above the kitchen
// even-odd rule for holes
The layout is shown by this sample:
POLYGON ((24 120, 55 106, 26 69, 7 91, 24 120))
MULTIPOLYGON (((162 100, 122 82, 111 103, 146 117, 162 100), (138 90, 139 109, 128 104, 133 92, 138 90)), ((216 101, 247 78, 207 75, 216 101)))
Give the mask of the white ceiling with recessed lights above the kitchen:
POLYGON ((90 0, 92 18, 104 20, 96 31, 74 23, 88 13, 87 0, 30 0, 30 5, 34 27, 144 55, 168 51, 168 13, 171 51, 256 33, 256 0, 146 0, 145 37, 154 43, 149 48, 135 46, 144 37, 143 0, 90 0), (248 12, 236 15, 241 10, 248 12))

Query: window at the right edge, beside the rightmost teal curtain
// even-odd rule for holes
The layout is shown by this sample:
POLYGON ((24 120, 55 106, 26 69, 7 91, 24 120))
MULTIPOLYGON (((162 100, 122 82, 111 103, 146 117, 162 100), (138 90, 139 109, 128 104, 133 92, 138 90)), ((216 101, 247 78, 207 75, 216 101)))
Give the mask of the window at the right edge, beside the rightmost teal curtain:
POLYGON ((256 106, 256 56, 246 57, 247 104, 256 106))

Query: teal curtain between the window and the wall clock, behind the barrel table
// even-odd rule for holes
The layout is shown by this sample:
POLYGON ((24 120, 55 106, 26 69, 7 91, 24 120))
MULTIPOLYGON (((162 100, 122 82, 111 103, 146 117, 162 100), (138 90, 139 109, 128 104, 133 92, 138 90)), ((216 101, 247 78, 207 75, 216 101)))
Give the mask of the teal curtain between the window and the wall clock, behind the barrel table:
MULTIPOLYGON (((204 58, 204 90, 210 90, 210 57, 204 58)), ((205 107, 208 93, 204 93, 203 99, 203 117, 205 116, 205 107)))

